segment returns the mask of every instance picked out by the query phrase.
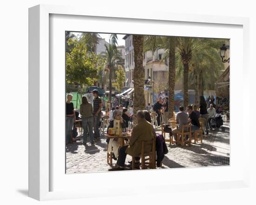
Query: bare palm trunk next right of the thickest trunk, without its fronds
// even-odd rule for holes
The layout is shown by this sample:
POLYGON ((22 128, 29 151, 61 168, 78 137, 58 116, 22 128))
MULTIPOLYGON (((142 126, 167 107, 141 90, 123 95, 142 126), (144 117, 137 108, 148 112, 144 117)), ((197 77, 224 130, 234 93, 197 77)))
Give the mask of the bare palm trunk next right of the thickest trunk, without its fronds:
POLYGON ((173 117, 175 110, 174 90, 175 90, 175 42, 169 46, 169 99, 168 99, 168 119, 173 117))

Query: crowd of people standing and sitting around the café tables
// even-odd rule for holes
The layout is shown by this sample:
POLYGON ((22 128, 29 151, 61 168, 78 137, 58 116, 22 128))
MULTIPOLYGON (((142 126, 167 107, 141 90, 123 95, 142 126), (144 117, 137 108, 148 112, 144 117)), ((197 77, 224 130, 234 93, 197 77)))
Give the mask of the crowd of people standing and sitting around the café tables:
MULTIPOLYGON (((102 109, 102 100, 98 96, 98 90, 93 90, 93 104, 88 102, 86 96, 82 97, 82 103, 80 105, 80 117, 81 124, 83 128, 83 144, 87 144, 87 139, 89 137, 90 143, 93 145, 95 141, 100 139, 100 119, 101 119, 101 109, 102 109)), ((72 95, 67 95, 66 102, 66 143, 74 143, 72 140, 72 128, 74 127, 74 122, 78 118, 74 110, 74 105, 71 102, 72 95)), ((141 152, 141 141, 151 141, 154 136, 156 136, 155 129, 151 124, 151 115, 150 112, 155 112, 158 114, 157 121, 160 124, 160 117, 163 113, 163 121, 168 123, 168 96, 162 99, 159 97, 157 102, 154 105, 147 103, 145 110, 138 110, 136 113, 137 124, 133 127, 131 137, 126 139, 126 143, 123 147, 120 147, 120 144, 114 138, 107 139, 108 148, 113 152, 113 159, 117 160, 116 167, 112 170, 122 170, 125 165, 126 155, 129 154, 135 157, 135 162, 138 162, 140 158, 138 157, 141 152)), ((172 129, 172 135, 177 140, 177 133, 181 132, 182 125, 188 123, 191 124, 191 130, 200 129, 199 118, 204 118, 205 122, 209 122, 209 118, 216 115, 216 109, 214 104, 211 103, 209 108, 207 102, 203 96, 200 96, 200 107, 196 105, 188 105, 186 110, 184 107, 179 107, 179 112, 176 115, 175 121, 177 122, 177 127, 172 129)), ((109 111, 109 124, 108 128, 114 128, 114 121, 118 120, 120 122, 120 128, 126 129, 129 124, 133 121, 133 102, 130 99, 127 101, 125 106, 123 104, 116 105, 112 107, 109 111)), ((204 123, 206 127, 207 134, 208 123, 204 123)), ((108 131, 107 131, 108 132, 108 131)), ((151 149, 150 146, 145 147, 145 151, 151 149)))

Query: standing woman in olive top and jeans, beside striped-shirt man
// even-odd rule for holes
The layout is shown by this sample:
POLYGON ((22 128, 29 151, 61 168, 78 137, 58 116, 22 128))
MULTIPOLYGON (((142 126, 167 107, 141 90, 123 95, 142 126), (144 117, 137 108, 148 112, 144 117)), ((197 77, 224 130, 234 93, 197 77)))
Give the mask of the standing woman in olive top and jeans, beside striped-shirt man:
POLYGON ((87 143, 87 133, 89 131, 89 136, 91 139, 91 144, 94 144, 94 135, 93 135, 93 106, 88 102, 86 96, 82 97, 82 103, 80 105, 80 114, 82 115, 82 126, 83 126, 83 145, 87 143), (89 128, 89 130, 88 130, 89 128))

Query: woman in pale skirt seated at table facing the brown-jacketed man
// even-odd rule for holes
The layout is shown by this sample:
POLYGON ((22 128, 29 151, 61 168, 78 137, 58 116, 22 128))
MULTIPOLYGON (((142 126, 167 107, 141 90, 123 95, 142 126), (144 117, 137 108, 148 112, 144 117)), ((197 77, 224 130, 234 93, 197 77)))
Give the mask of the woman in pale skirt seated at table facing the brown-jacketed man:
MULTIPOLYGON (((125 122, 123 121, 122 117, 122 112, 120 110, 115 110, 113 113, 113 119, 109 122, 108 129, 109 128, 114 128, 114 120, 120 120, 121 122, 121 128, 125 128, 125 122)), ((107 130, 108 133, 108 130, 107 130)), ((118 139, 107 139, 108 143, 108 152, 111 152, 113 149, 113 159, 117 160, 116 158, 118 157, 118 148, 119 148, 119 141, 118 139)))

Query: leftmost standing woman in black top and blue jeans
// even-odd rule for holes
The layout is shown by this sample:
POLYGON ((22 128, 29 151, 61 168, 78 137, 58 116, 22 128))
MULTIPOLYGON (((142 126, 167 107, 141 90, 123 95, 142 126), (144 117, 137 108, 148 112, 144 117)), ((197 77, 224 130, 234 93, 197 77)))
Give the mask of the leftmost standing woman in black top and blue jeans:
POLYGON ((72 141, 72 129, 75 122, 75 112, 74 112, 74 104, 71 102, 73 96, 72 94, 67 94, 67 102, 66 102, 66 144, 73 143, 72 141))

